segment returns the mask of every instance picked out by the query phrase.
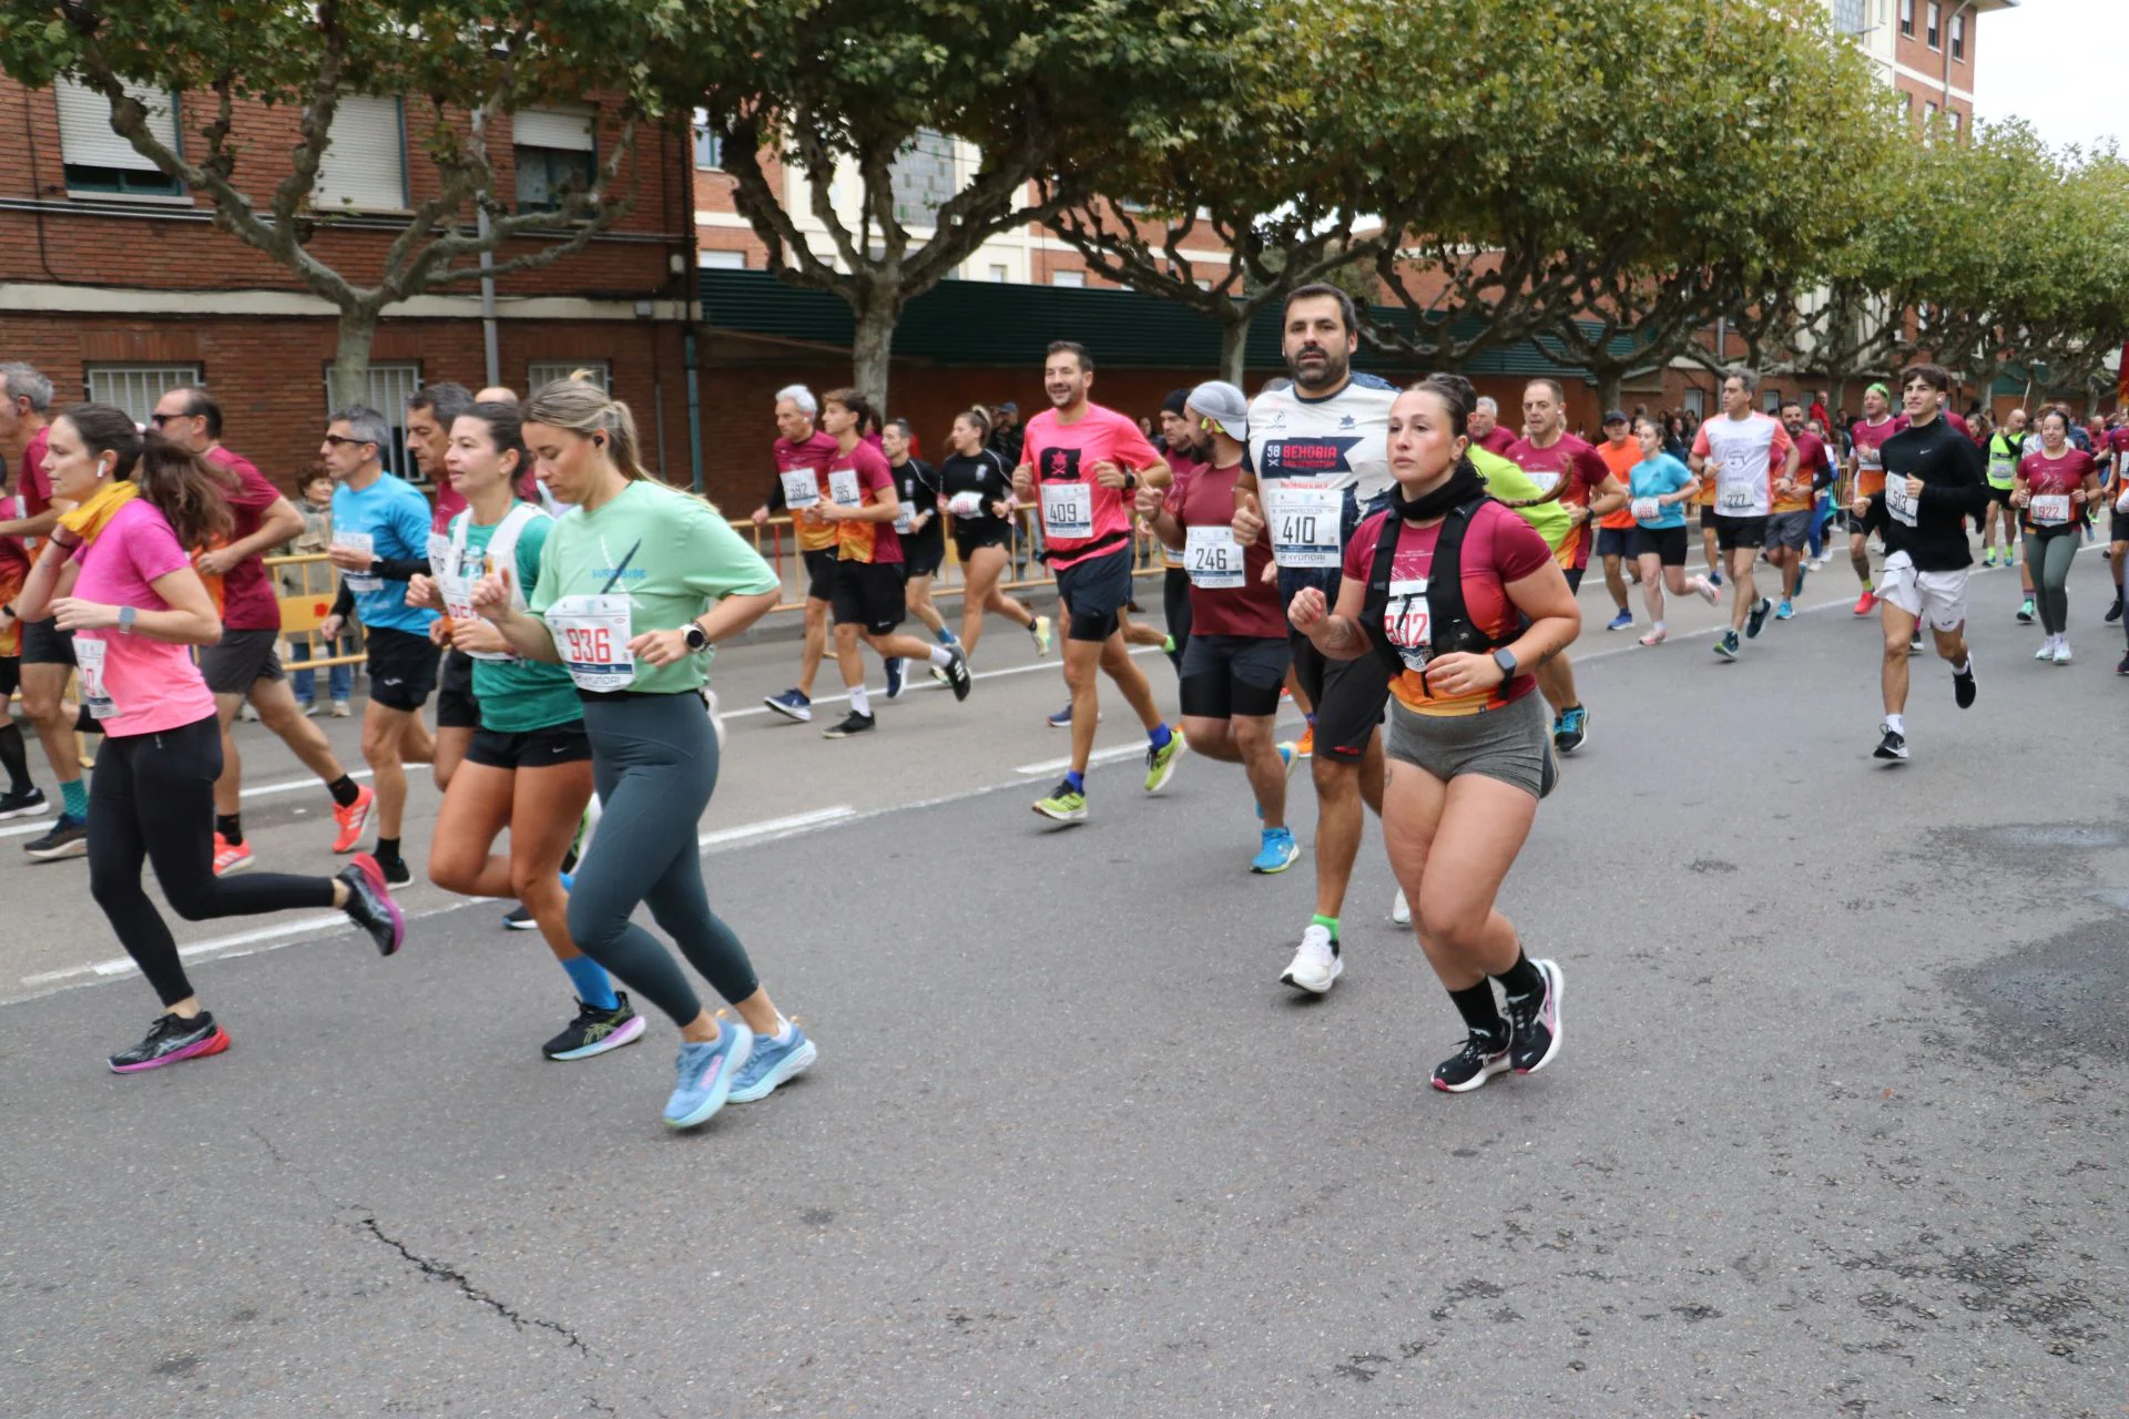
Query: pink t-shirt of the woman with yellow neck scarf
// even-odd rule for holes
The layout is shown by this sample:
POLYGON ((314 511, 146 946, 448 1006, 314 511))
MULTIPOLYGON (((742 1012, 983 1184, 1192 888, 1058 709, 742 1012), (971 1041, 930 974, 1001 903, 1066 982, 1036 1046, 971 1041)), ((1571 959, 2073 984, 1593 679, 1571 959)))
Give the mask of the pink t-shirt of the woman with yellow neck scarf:
MULTIPOLYGON (((75 551, 75 562, 81 564, 72 591, 79 600, 168 611, 170 602, 155 596, 151 583, 189 568, 192 555, 177 545, 177 532, 155 504, 134 498, 111 515, 94 542, 75 551)), ((83 642, 104 647, 102 681, 113 704, 113 711, 100 715, 104 734, 113 738, 160 734, 215 713, 215 696, 200 679, 200 668, 192 664, 189 647, 138 634, 126 636, 113 625, 75 632, 77 662, 83 662, 83 642)), ((94 660, 94 651, 87 660, 94 660)))

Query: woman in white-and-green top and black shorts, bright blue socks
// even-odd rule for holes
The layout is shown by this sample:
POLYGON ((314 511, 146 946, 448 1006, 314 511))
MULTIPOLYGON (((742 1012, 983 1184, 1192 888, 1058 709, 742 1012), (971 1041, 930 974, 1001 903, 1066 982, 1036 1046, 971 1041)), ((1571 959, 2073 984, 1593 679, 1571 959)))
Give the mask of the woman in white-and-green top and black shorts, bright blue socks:
POLYGON ((407 602, 443 615, 439 640, 473 657, 473 698, 481 728, 466 762, 451 774, 428 849, 428 877, 445 891, 477 898, 515 896, 577 991, 577 1017, 541 1047, 549 1059, 590 1059, 643 1034, 643 1017, 615 994, 607 972, 568 938, 571 838, 592 800, 592 742, 583 706, 560 666, 519 660, 502 632, 473 613, 473 585, 500 568, 515 611, 539 581, 541 547, 554 519, 519 502, 517 474, 528 466, 515 404, 473 404, 451 425, 445 477, 466 500, 443 547, 430 553, 434 577, 407 583, 407 602), (496 853, 496 834, 511 851, 496 853))

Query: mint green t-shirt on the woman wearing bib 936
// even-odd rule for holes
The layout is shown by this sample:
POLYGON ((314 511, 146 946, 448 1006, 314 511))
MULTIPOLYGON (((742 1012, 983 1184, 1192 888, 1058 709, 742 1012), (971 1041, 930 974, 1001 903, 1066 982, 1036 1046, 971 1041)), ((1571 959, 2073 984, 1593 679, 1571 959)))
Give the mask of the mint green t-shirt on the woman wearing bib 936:
MULTIPOLYGON (((777 591, 762 553, 732 532, 717 508, 662 483, 630 483, 596 513, 571 508, 541 549, 532 615, 564 596, 628 596, 630 636, 679 630, 726 596, 777 591)), ((700 689, 709 655, 683 655, 662 670, 637 664, 628 689, 671 696, 700 689)))

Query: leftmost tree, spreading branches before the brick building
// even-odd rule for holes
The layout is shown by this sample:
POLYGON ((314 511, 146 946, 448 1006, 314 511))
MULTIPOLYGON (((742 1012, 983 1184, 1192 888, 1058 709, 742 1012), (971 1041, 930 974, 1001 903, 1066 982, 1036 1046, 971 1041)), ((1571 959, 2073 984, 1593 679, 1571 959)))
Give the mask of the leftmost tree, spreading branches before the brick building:
MULTIPOLYGON (((447 0, 317 0, 315 4, 164 4, 160 0, 6 0, 0 68, 28 85, 75 77, 111 102, 111 128, 187 191, 215 226, 285 266, 339 311, 336 404, 362 402, 377 319, 424 291, 509 277, 558 262, 609 228, 626 198, 613 187, 634 151, 643 108, 626 89, 630 55, 675 30, 679 0, 566 0, 539 19, 507 6, 447 0), (128 85, 200 98, 204 153, 164 145, 128 85), (617 91, 620 128, 590 183, 558 211, 511 211, 496 194, 490 143, 498 117, 551 96, 617 91), (319 160, 351 94, 409 100, 409 149, 434 170, 375 270, 343 270, 317 236, 334 213, 315 200, 319 160), (285 162, 247 140, 238 104, 294 108, 300 136, 285 162), (419 104, 419 108, 417 108, 419 104), (481 253, 537 243, 481 266, 481 253)), ((187 138, 194 134, 187 134, 187 138)))

